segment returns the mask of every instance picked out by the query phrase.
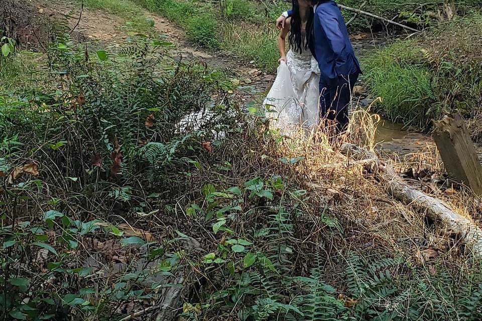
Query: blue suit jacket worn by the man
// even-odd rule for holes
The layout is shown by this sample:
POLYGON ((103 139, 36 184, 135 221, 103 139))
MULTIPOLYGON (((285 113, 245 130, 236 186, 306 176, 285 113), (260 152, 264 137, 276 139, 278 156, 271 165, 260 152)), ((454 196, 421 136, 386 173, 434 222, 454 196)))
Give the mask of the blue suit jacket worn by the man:
MULTIPOLYGON (((291 16, 291 11, 288 12, 291 16)), ((361 72, 341 12, 332 0, 316 7, 311 52, 321 71, 320 82, 336 86, 339 76, 361 72)))

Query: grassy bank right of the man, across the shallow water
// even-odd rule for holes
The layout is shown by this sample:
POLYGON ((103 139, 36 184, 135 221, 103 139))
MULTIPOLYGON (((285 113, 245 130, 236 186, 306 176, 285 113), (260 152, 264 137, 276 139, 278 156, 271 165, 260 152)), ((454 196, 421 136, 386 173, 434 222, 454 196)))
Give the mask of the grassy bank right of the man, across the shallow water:
MULTIPOLYGON (((383 98, 381 112, 421 128, 443 111, 478 114, 482 100, 479 52, 482 16, 459 18, 417 39, 401 41, 364 60, 365 81, 383 98)), ((480 129, 471 127, 476 139, 480 129)))

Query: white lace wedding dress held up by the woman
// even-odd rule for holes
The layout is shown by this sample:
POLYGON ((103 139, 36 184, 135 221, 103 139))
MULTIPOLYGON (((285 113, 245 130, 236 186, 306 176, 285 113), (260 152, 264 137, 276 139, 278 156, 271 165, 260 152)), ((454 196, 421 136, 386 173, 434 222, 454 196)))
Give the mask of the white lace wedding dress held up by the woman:
POLYGON ((314 133, 320 120, 318 63, 309 49, 301 54, 290 50, 286 58, 264 101, 266 116, 270 125, 285 135, 300 128, 305 129, 305 134, 314 133))

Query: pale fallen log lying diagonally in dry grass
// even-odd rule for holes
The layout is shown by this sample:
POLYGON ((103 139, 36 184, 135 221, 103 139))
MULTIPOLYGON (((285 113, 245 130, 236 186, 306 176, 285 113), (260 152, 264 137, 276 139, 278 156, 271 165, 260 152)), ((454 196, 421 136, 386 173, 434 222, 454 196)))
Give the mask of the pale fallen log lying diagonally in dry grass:
POLYGON ((426 213, 434 221, 443 221, 451 232, 459 236, 462 242, 472 247, 474 256, 482 256, 482 230, 470 219, 455 212, 447 203, 408 185, 390 165, 380 161, 373 152, 353 144, 343 144, 341 152, 357 161, 374 159, 374 174, 387 185, 393 197, 407 206, 426 213))

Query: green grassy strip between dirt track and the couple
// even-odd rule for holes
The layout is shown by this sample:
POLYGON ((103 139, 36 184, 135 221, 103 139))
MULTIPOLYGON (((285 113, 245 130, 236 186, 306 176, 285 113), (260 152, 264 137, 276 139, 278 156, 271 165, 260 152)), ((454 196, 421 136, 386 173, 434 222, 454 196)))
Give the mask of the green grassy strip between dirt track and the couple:
POLYGON ((275 16, 286 9, 282 2, 265 7, 247 0, 226 0, 221 7, 203 1, 134 0, 186 30, 187 38, 209 49, 220 49, 255 60, 275 70, 278 61, 275 16))

